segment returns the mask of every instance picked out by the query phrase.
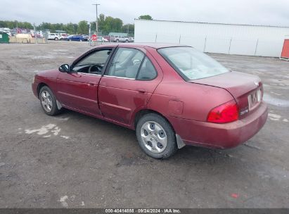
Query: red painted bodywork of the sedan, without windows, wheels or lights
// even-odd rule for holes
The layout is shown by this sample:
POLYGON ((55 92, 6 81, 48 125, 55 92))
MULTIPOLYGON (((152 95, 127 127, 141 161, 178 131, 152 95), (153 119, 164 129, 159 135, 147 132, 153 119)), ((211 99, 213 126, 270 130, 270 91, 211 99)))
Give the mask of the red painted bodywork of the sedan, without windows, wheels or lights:
MULTIPOLYGON (((35 76, 34 95, 38 97, 39 84, 46 84, 65 108, 133 130, 137 113, 155 111, 171 123, 185 144, 195 146, 238 146, 254 136, 266 122, 268 112, 263 101, 234 122, 207 122, 210 111, 223 103, 235 100, 239 110, 248 108, 248 94, 262 88, 259 77, 231 72, 186 82, 157 51, 170 45, 109 44, 96 49, 116 46, 143 51, 158 76, 154 80, 140 81, 49 70, 35 76)), ((83 56, 85 53, 76 61, 83 56)))

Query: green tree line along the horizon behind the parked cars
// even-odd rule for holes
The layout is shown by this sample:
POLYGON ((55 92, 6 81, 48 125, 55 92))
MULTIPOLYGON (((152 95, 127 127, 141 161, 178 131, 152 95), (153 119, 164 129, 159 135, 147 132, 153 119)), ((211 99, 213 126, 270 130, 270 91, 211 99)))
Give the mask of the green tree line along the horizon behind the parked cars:
MULTIPOLYGON (((148 19, 152 20, 150 15, 141 15, 139 19, 148 19)), ((96 31, 96 22, 90 22, 91 33, 96 31)), ((0 27, 13 28, 22 28, 32 30, 34 27, 32 23, 27 22, 18 22, 18 21, 7 21, 0 20, 0 27)), ((79 23, 41 23, 40 25, 35 26, 37 30, 50 30, 55 32, 56 30, 64 30, 68 34, 88 34, 89 33, 89 22, 82 20, 79 23)), ((123 21, 120 18, 113 18, 111 16, 105 16, 104 14, 99 15, 98 17, 98 32, 100 34, 106 35, 110 32, 128 32, 129 35, 134 35, 134 25, 126 24, 124 25, 123 21)))

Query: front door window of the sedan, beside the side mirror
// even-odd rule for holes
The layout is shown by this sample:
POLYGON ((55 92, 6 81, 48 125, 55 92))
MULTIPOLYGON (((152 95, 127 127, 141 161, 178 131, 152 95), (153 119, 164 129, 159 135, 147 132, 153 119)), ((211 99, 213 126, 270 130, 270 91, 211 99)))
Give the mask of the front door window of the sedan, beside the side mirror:
POLYGON ((79 61, 72 70, 79 73, 100 74, 105 62, 108 60, 108 56, 110 56, 110 52, 111 49, 103 49, 91 53, 79 61))

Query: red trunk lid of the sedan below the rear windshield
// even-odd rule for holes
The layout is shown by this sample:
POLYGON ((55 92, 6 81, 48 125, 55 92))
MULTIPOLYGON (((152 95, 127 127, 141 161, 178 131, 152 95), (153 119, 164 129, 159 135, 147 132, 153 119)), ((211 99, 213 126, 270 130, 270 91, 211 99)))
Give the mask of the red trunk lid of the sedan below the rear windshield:
POLYGON ((262 82, 255 75, 232 71, 189 82, 226 89, 238 104, 240 118, 254 111, 262 100, 262 82))

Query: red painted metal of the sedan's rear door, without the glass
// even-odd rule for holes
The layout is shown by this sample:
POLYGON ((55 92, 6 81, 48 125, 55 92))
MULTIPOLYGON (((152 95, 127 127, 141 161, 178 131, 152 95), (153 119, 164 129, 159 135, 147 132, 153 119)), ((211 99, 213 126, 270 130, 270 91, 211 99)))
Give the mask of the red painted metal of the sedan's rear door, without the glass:
MULTIPOLYGON (((122 47, 122 46, 120 46, 122 47)), ((155 63, 155 59, 146 49, 139 49, 155 63)), ((136 111, 146 108, 150 96, 162 81, 162 70, 155 65, 158 76, 154 80, 142 81, 104 75, 99 84, 99 101, 101 113, 105 118, 133 125, 131 118, 136 111)))

